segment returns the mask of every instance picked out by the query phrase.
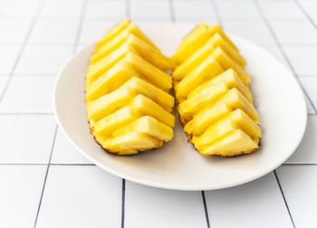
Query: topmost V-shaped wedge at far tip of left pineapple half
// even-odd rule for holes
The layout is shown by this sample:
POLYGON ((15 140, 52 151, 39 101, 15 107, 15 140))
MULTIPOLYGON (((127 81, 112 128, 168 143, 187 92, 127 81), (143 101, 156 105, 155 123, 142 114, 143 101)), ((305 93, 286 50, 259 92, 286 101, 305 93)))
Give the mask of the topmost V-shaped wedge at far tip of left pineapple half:
MULTIPOLYGON (((101 47, 103 47, 105 44, 109 43, 112 40, 120 40, 121 33, 132 33, 139 37, 142 41, 149 43, 153 48, 157 49, 159 51, 159 48, 152 43, 149 38, 142 33, 142 31, 139 30, 139 27, 133 23, 130 22, 130 20, 123 21, 122 23, 115 26, 112 30, 110 30, 109 33, 107 33, 99 43, 95 46, 95 51, 99 51, 101 47)), ((124 36, 124 34, 123 34, 124 36)))

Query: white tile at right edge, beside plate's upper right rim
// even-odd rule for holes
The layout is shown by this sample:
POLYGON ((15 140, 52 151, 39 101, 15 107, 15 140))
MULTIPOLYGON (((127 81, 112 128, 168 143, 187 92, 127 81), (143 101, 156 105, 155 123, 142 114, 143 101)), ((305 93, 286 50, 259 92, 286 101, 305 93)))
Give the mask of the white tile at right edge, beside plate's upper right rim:
POLYGON ((301 75, 317 76, 317 46, 310 47, 283 47, 294 71, 301 75))

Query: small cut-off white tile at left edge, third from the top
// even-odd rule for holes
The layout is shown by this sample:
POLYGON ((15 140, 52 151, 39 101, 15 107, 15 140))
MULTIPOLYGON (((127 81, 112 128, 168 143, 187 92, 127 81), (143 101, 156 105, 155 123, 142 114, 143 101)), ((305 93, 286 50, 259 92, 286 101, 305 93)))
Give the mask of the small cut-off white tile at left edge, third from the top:
POLYGON ((20 49, 18 46, 0 45, 0 73, 10 74, 12 72, 20 49))

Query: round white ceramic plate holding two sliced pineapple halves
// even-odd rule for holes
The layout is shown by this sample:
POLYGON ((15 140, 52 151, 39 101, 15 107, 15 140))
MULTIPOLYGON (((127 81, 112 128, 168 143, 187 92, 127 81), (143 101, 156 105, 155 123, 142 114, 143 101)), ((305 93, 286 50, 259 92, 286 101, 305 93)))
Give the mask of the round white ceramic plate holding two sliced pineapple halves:
MULTIPOLYGON (((191 25, 141 26, 169 56, 191 25)), ((262 146, 242 157, 204 157, 187 143, 176 123, 175 136, 164 147, 132 157, 107 154, 89 133, 84 103, 84 75, 93 45, 76 54, 56 85, 55 114, 64 134, 82 155, 115 176, 143 185, 178 190, 207 190, 241 185, 264 176, 293 154, 303 138, 307 111, 293 74, 271 54, 231 35, 248 62, 251 90, 262 121, 262 146)))

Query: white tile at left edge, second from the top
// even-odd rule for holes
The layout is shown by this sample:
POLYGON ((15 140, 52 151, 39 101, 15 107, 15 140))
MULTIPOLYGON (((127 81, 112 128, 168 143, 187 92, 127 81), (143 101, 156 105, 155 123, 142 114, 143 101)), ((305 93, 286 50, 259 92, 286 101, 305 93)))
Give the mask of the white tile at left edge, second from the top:
POLYGON ((23 43, 30 23, 25 19, 0 18, 0 43, 23 43))

